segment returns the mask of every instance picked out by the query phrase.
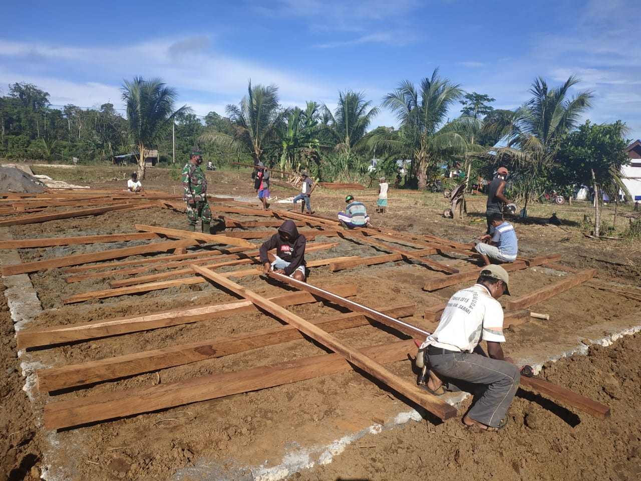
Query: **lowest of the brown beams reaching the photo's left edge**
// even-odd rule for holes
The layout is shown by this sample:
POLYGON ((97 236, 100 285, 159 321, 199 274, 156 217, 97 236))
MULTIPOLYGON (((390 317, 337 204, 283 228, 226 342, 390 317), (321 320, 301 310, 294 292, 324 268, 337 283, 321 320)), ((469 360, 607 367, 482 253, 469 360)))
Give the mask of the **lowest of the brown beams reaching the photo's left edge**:
POLYGON ((13 274, 24 274, 42 271, 44 269, 53 269, 54 267, 75 266, 76 264, 96 262, 97 260, 129 257, 130 255, 146 254, 150 252, 166 252, 171 249, 193 246, 197 243, 198 241, 194 241, 193 239, 182 239, 181 241, 160 241, 151 242, 149 244, 145 244, 144 246, 124 247, 120 249, 109 249, 106 251, 68 255, 65 257, 58 257, 53 259, 35 260, 33 262, 22 262, 22 264, 3 266, 2 274, 3 276, 12 276, 13 274))

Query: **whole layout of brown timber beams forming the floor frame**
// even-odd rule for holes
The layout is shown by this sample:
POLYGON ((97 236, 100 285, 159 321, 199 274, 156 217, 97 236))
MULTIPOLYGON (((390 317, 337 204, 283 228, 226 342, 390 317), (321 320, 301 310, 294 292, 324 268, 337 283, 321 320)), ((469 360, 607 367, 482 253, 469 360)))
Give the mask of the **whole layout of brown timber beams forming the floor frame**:
MULTIPOLYGON (((398 337, 404 340, 372 346, 365 350, 354 350, 349 346, 344 346, 330 334, 337 330, 367 324, 382 328, 383 324, 379 323, 378 314, 399 318, 413 316, 415 308, 412 304, 391 307, 387 305, 387 307, 376 311, 376 316, 368 315, 367 307, 360 312, 351 311, 342 314, 337 312, 333 316, 315 319, 310 323, 294 316, 285 307, 318 301, 327 303, 328 298, 319 297, 306 291, 283 291, 283 293, 271 298, 262 298, 255 292, 231 282, 229 278, 262 274, 260 260, 257 257, 260 241, 254 243, 251 240, 266 239, 272 233, 276 233, 276 228, 287 219, 294 221, 299 232, 306 235, 308 241, 314 241, 308 242, 306 251, 330 249, 326 258, 308 262, 308 267, 328 266, 328 269, 336 272, 387 262, 412 262, 425 269, 424 290, 426 291, 438 291, 443 287, 476 279, 481 267, 478 255, 472 251, 472 244, 385 228, 369 227, 344 230, 340 227, 337 219, 320 215, 298 214, 285 210, 262 211, 257 203, 252 205, 251 203, 237 202, 231 198, 212 198, 210 199, 210 207, 213 216, 220 216, 226 227, 226 230, 215 235, 136 224, 137 232, 76 235, 48 239, 15 239, 0 242, 0 249, 33 249, 94 242, 137 241, 136 247, 104 249, 89 254, 69 255, 54 259, 44 258, 12 266, 2 266, 4 276, 35 273, 43 269, 60 267, 67 283, 87 278, 101 278, 110 284, 110 289, 106 291, 76 294, 65 298, 64 303, 83 302, 204 282, 215 282, 217 285, 222 285, 226 289, 236 292, 237 296, 241 298, 240 300, 230 300, 228 303, 156 312, 145 316, 21 330, 17 335, 21 349, 47 349, 61 344, 86 342, 98 337, 114 336, 117 339, 116 336, 158 330, 181 323, 211 322, 237 312, 255 312, 258 308, 271 312, 271 315, 276 319, 290 323, 290 325, 279 324, 273 328, 207 339, 155 351, 141 350, 110 359, 96 359, 82 364, 41 369, 37 373, 38 390, 49 392, 51 396, 50 402, 45 408, 47 428, 69 428, 121 416, 167 409, 184 403, 213 399, 237 392, 266 389, 284 382, 296 382, 297 380, 353 369, 350 363, 345 362, 345 357, 352 360, 358 359, 362 363, 358 364, 361 369, 390 385, 392 389, 400 392, 404 397, 437 414, 440 418, 447 419, 456 414, 456 410, 451 406, 425 392, 416 392, 411 383, 400 382, 383 367, 383 364, 387 362, 407 359, 408 355, 415 354, 413 342, 407 339, 407 335, 403 334, 402 329, 398 331, 398 337), (271 230, 265 230, 265 228, 271 230), (324 236, 329 241, 315 241, 315 238, 319 236, 324 236), (144 244, 141 245, 140 241, 143 241, 144 244), (333 258, 331 257, 331 248, 337 246, 338 243, 368 246, 376 253, 363 257, 355 250, 353 256, 333 258), (146 254, 146 257, 141 258, 141 254, 146 254), (240 267, 240 269, 228 271, 222 275, 215 273, 215 270, 222 266, 247 265, 251 268, 240 267), (122 278, 122 276, 127 277, 122 278), (110 280, 114 277, 119 277, 119 279, 110 280), (171 366, 197 363, 199 360, 299 339, 303 337, 301 332, 329 346, 336 354, 302 359, 296 363, 286 362, 282 365, 218 373, 215 376, 201 376, 146 389, 110 392, 108 395, 104 392, 87 396, 78 395, 71 399, 58 400, 60 390, 81 392, 88 384, 96 385, 123 376, 160 371, 171 366), (296 376, 292 375, 292 367, 298 372, 296 376), (242 380, 240 384, 237 382, 238 379, 242 380)), ((47 189, 44 192, 29 194, 0 193, 0 226, 40 223, 53 219, 71 219, 86 215, 101 215, 114 210, 138 208, 170 208, 184 211, 185 205, 180 196, 166 192, 134 194, 121 191, 47 189)), ((553 264, 560 260, 562 260, 560 255, 534 258, 519 257, 516 262, 504 266, 508 271, 515 271, 543 265, 567 272, 565 278, 553 285, 538 289, 538 291, 520 298, 511 299, 506 306, 506 323, 526 322, 529 319, 528 307, 579 283, 586 282, 596 273, 594 269, 576 271, 576 269, 564 269, 563 266, 553 264)), ((328 286, 325 289, 334 296, 347 298, 356 295, 356 286, 354 285, 328 286)), ((445 303, 429 307, 424 312, 424 319, 431 322, 438 321, 445 303)))

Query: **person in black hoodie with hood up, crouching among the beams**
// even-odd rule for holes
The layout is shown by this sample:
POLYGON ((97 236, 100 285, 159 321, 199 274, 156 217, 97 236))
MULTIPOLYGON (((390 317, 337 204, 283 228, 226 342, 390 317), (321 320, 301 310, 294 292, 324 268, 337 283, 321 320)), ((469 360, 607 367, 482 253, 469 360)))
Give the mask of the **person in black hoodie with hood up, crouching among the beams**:
POLYGON ((283 222, 278 228, 278 233, 260 246, 260 262, 265 274, 273 270, 277 274, 285 274, 304 282, 306 242, 305 236, 298 233, 294 221, 283 222), (267 251, 271 249, 276 249, 276 260, 270 264, 267 251))

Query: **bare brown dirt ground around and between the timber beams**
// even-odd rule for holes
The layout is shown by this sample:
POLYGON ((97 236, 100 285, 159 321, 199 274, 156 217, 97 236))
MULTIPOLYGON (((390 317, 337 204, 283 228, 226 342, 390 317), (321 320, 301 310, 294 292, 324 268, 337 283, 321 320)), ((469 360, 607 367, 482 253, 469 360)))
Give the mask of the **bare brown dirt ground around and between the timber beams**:
MULTIPOLYGON (((256 195, 246 174, 215 172, 208 176, 212 180, 212 194, 242 199, 253 199, 256 195)), ((91 187, 120 189, 121 184, 122 181, 103 181, 95 182, 91 187)), ((177 187, 176 182, 153 173, 144 185, 147 190, 171 193, 177 187)), ((279 198, 296 193, 279 181, 274 181, 272 190, 272 196, 279 198)), ((397 194, 394 199, 392 193, 388 213, 384 215, 373 213, 375 201, 370 199, 376 197, 375 190, 354 195, 357 199, 367 199, 374 226, 437 235, 459 242, 469 242, 485 228, 485 219, 480 212, 482 202, 470 203, 468 217, 454 220, 444 219, 440 215, 442 208, 439 211, 438 207, 426 207, 421 194, 397 194), (479 218, 483 221, 473 222, 479 218)), ((312 197, 313 208, 319 215, 333 217, 344 207, 344 196, 344 192, 319 190, 312 197)), ((283 206, 290 208, 286 204, 283 206)), ((272 207, 281 208, 276 203, 272 207)), ((541 218, 551 214, 545 208, 540 209, 541 218)), ((235 214, 230 217, 252 219, 235 214)), ((460 422, 470 398, 461 400, 460 396, 450 394, 452 401, 459 402, 460 416, 441 422, 373 382, 369 376, 349 372, 51 432, 44 428, 42 418, 47 402, 276 364, 324 354, 328 350, 301 339, 49 396, 36 392, 29 384, 34 369, 251 332, 274 326, 278 321, 262 312, 235 314, 148 332, 21 351, 18 357, 15 319, 6 296, 0 296, 0 353, 3 359, 0 426, 4 434, 0 452, 5 453, 0 481, 39 477, 51 481, 638 478, 641 475, 641 418, 637 405, 641 398, 641 333, 635 332, 641 328, 641 302, 590 286, 636 291, 641 295, 638 290, 641 246, 639 242, 587 239, 576 223, 558 227, 537 224, 535 220, 515 222, 520 255, 534 257, 560 253, 563 260, 558 264, 576 269, 595 267, 598 274, 588 283, 532 306, 531 310, 535 312, 549 313, 550 319, 531 319, 528 323, 506 328, 504 350, 519 364, 542 366, 539 375, 554 384, 610 406, 612 416, 609 419, 595 419, 523 388, 508 412, 506 429, 496 434, 470 432, 460 422), (619 336, 622 332, 628 332, 628 335, 619 336), (558 360, 547 362, 550 359, 558 360)), ((186 215, 160 208, 111 212, 96 217, 0 228, 0 234, 4 239, 31 239, 126 233, 135 232, 133 224, 136 223, 183 228, 186 215)), ((336 238, 318 237, 316 241, 336 241, 336 238)), ((13 251, 13 255, 19 255, 22 262, 27 262, 146 242, 19 249, 13 251)), ((260 243, 260 240, 252 242, 260 243)), ((380 253, 364 244, 338 242, 335 248, 308 253, 306 259, 380 253)), ((7 251, 0 251, 0 254, 4 256, 0 258, 1 262, 13 262, 7 251)), ((435 259, 453 266, 469 266, 462 258, 435 259)), ((29 275, 42 310, 28 319, 22 328, 98 321, 235 299, 213 285, 202 283, 65 305, 61 301, 63 297, 108 289, 109 281, 125 278, 120 275, 67 283, 66 275, 62 269, 29 275)), ((426 279, 441 275, 419 261, 411 261, 360 266, 337 273, 332 273, 328 267, 317 267, 312 269, 308 282, 320 287, 354 283, 358 286, 354 300, 372 308, 414 303, 415 315, 404 320, 432 330, 435 324, 424 321, 424 310, 470 284, 462 283, 436 292, 422 290, 426 279)), ((567 272, 547 267, 510 273, 512 297, 554 283, 565 275, 567 272)), ((4 281, 6 284, 6 279, 4 281)), ((260 277, 248 276, 236 281, 265 296, 283 292, 279 285, 267 283, 260 277)), ((0 289, 4 291, 5 288, 0 286, 0 289)), ((507 300, 509 298, 501 298, 500 301, 504 304, 507 300)), ((320 319, 336 313, 335 308, 320 302, 288 309, 304 319, 320 319)), ((394 332, 370 325, 333 335, 358 348, 398 339, 394 332)), ((407 380, 415 379, 410 360, 387 364, 387 367, 407 380)))

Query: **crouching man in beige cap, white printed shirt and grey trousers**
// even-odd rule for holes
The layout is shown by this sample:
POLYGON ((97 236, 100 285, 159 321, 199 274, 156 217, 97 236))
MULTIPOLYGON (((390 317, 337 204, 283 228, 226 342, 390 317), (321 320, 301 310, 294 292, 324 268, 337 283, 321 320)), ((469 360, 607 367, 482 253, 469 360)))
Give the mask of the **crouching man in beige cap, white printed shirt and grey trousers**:
POLYGON ((508 273, 501 266, 483 267, 476 284, 456 292, 447 302, 440 323, 420 346, 430 367, 426 389, 440 396, 443 380, 471 383, 479 389, 463 416, 465 425, 498 431, 507 424, 506 413, 519 387, 519 368, 504 357, 503 309, 497 301, 510 295, 508 273), (489 357, 479 341, 487 342, 489 357))

